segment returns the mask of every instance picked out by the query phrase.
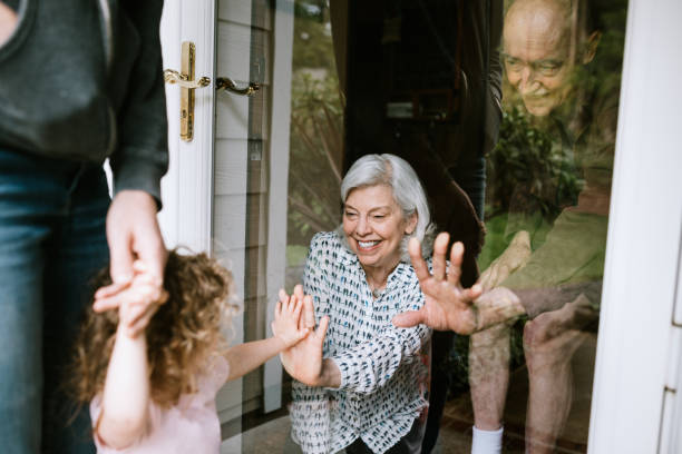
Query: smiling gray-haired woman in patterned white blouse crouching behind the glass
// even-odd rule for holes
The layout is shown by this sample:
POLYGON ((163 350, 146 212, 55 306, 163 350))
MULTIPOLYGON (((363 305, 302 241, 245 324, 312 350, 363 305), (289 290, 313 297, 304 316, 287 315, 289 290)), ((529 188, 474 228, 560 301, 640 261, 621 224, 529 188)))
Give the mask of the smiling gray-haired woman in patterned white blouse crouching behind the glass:
MULTIPOLYGON (((431 330, 391 319, 425 303, 407 243, 418 238, 430 255, 426 195, 403 159, 370 155, 350 168, 341 197, 342 226, 314 236, 305 264, 320 327, 282 355, 299 381, 292 437, 304 453, 418 453, 431 330)), ((304 297, 300 286, 292 297, 304 297)))

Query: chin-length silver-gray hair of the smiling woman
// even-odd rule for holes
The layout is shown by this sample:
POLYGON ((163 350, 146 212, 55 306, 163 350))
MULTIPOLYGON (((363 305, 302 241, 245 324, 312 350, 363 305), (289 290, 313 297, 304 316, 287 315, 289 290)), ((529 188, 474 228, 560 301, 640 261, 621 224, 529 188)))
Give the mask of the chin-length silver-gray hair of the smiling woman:
POLYGON ((387 185, 392 189, 393 198, 402 208, 402 216, 406 220, 417 215, 415 231, 411 235, 405 235, 400 243, 400 259, 410 261, 407 245, 411 237, 417 237, 421 243, 421 254, 430 257, 433 251, 436 227, 431 224, 431 211, 426 191, 415 169, 396 155, 366 155, 353 162, 343 177, 341 200, 345 203, 353 189, 377 185, 387 185))

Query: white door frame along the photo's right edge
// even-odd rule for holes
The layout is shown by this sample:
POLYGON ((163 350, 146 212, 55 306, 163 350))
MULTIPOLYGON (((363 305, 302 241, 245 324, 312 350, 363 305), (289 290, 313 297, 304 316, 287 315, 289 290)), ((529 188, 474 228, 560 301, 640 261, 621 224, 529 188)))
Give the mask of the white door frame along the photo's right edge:
POLYGON ((681 273, 680 18, 679 0, 630 0, 590 453, 679 452, 665 447, 665 427, 679 432, 680 420, 666 420, 663 401, 682 355, 671 324, 681 273))

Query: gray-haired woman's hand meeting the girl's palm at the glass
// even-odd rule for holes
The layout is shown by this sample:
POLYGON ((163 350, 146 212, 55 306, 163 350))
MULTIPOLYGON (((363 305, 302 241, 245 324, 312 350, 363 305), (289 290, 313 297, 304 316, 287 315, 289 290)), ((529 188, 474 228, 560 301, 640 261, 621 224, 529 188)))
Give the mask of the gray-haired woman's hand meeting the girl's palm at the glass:
MULTIPOLYGON (((303 300, 303 314, 300 317, 300 329, 310 328, 311 322, 314 327, 314 308, 312 296, 303 295, 303 288, 298 285, 291 297, 284 290, 280 290, 280 303, 285 299, 303 300)), ((291 303, 290 303, 291 304, 291 303)), ((295 379, 309 386, 320 386, 322 378, 322 346, 329 326, 329 317, 320 320, 316 330, 311 332, 308 337, 285 349, 280 354, 282 365, 295 379)))

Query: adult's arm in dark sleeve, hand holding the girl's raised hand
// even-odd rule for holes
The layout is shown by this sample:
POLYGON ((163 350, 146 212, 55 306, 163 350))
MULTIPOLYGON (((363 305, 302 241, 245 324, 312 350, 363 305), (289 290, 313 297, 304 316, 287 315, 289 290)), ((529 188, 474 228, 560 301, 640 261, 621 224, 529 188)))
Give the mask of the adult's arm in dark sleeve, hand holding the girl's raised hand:
MULTIPOLYGON (((139 33, 139 56, 130 73, 125 102, 118 112, 118 147, 110 157, 115 197, 107 214, 107 240, 110 250, 113 285, 95 295, 96 310, 117 307, 116 295, 133 277, 131 264, 142 260, 155 276, 158 295, 167 251, 158 228, 156 213, 160 207, 160 178, 168 166, 167 122, 162 77, 159 21, 163 3, 121 2, 139 33)), ((120 50, 120 49, 119 49, 120 50)), ((138 333, 154 314, 153 302, 130 319, 129 328, 138 333)))

